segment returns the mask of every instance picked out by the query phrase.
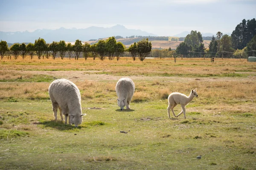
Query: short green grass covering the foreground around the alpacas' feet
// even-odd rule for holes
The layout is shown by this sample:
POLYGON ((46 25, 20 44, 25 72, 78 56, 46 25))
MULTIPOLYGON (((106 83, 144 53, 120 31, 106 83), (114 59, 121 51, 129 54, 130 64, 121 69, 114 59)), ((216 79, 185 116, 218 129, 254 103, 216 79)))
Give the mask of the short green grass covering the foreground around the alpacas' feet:
POLYGON ((8 155, 0 169, 227 169, 235 163, 247 169, 255 166, 254 113, 237 117, 225 113, 220 120, 218 116, 188 112, 187 119, 169 119, 166 108, 153 109, 162 102, 133 102, 131 111, 121 112, 115 104, 83 101, 83 113, 87 115, 75 128, 53 121, 49 100, 29 101, 29 107, 23 100, 15 105, 8 103, 0 104, 1 145, 5 148, 0 156, 8 155), (7 111, 10 108, 12 111, 7 111), (245 130, 247 133, 243 133, 245 130), (202 159, 197 160, 198 155, 202 159))

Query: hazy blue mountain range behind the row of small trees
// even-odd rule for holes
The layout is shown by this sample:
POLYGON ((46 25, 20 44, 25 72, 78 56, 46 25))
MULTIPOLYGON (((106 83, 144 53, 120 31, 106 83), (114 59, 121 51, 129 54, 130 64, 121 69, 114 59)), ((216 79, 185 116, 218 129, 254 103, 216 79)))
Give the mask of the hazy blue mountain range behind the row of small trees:
POLYGON ((110 28, 104 27, 88 27, 83 29, 76 28, 59 28, 56 30, 42 29, 35 30, 33 32, 29 31, 17 31, 17 32, 3 32, 0 31, 0 39, 9 43, 15 42, 35 42, 39 37, 43 38, 46 42, 50 43, 52 41, 76 41, 77 39, 81 41, 88 41, 90 39, 99 39, 102 37, 112 37, 112 36, 122 36, 130 37, 133 35, 140 36, 156 36, 141 30, 128 29, 125 26, 116 25, 110 28))

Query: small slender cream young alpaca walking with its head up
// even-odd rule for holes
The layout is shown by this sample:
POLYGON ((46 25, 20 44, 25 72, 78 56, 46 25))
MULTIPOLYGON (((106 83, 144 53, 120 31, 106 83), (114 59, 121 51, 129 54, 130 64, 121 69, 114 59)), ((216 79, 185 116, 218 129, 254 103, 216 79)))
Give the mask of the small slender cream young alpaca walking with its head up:
POLYGON ((172 113, 175 117, 178 117, 180 116, 180 114, 184 114, 184 118, 186 119, 186 105, 189 104, 189 102, 192 101, 192 99, 194 97, 198 97, 198 94, 196 92, 197 88, 195 88, 194 90, 192 89, 191 93, 189 96, 186 96, 185 94, 181 94, 181 93, 172 93, 169 95, 168 97, 168 102, 169 102, 169 105, 168 105, 168 108, 167 108, 167 111, 168 111, 168 116, 169 118, 171 119, 171 116, 170 116, 170 110, 172 110, 172 113), (182 108, 182 111, 176 116, 173 109, 175 108, 175 106, 177 106, 178 104, 181 105, 181 108, 182 108))

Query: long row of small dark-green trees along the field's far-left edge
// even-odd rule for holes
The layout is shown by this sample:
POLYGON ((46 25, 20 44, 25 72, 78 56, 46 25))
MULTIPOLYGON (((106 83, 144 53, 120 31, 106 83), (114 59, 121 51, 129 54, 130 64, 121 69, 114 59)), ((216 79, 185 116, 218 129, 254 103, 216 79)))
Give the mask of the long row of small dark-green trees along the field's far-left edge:
POLYGON ((71 58, 72 55, 75 54, 75 59, 78 60, 82 54, 85 60, 88 57, 93 57, 93 59, 99 57, 101 60, 104 60, 105 57, 108 57, 109 60, 113 60, 116 57, 116 59, 119 60, 120 56, 125 51, 130 51, 132 49, 131 51, 135 54, 134 60, 138 55, 139 59, 143 61, 150 53, 151 48, 151 42, 148 42, 148 39, 143 39, 135 43, 133 47, 126 49, 122 42, 116 42, 115 37, 110 37, 107 40, 99 40, 93 45, 90 45, 87 42, 82 43, 81 40, 76 40, 74 45, 63 40, 46 43, 44 39, 38 38, 38 40, 35 40, 34 44, 29 43, 26 45, 25 43, 15 43, 10 48, 8 48, 6 41, 0 41, 1 59, 3 59, 6 52, 9 51, 15 59, 17 59, 19 55, 23 59, 26 55, 29 55, 32 59, 35 54, 38 59, 44 59, 44 57, 48 59, 50 56, 55 59, 57 55, 63 59, 66 55, 71 58))

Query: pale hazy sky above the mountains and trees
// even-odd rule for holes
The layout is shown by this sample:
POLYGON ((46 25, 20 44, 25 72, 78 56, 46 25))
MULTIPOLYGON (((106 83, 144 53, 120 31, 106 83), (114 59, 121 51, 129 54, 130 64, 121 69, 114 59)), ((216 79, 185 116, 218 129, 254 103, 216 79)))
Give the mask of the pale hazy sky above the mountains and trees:
POLYGON ((111 27, 158 36, 232 33, 256 18, 256 0, 0 0, 0 31, 111 27))

